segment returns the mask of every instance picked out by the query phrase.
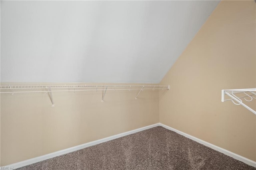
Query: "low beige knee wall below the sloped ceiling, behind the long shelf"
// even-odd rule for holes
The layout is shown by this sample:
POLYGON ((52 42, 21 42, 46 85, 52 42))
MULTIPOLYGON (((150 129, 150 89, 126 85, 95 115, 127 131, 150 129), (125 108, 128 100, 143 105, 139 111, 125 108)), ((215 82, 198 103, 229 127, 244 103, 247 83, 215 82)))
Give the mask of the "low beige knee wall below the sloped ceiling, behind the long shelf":
POLYGON ((158 123, 158 90, 138 91, 1 94, 1 165, 158 123))

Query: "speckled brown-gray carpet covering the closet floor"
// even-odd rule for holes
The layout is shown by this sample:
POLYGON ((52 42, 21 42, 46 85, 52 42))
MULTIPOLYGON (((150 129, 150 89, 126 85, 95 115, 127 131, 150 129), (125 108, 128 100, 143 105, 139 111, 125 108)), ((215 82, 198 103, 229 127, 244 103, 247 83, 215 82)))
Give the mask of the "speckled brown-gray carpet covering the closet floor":
POLYGON ((154 127, 18 170, 256 170, 163 127, 154 127))

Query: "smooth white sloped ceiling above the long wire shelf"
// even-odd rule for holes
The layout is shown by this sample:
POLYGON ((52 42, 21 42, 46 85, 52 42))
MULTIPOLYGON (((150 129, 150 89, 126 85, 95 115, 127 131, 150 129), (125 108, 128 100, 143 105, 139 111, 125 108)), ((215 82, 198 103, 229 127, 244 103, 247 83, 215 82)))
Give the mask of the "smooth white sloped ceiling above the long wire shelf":
POLYGON ((1 1, 1 82, 158 83, 219 1, 1 1))

